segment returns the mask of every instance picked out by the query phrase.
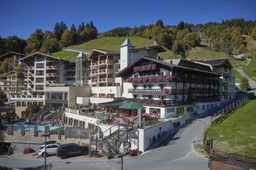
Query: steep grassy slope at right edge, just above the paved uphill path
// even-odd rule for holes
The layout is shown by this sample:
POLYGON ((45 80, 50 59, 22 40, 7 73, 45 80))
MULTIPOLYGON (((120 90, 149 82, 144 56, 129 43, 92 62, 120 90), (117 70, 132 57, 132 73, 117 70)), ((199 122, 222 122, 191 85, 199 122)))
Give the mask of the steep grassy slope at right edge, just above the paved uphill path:
POLYGON ((247 48, 252 53, 252 60, 248 66, 244 67, 244 72, 256 81, 256 40, 250 36, 245 36, 247 42, 247 48))

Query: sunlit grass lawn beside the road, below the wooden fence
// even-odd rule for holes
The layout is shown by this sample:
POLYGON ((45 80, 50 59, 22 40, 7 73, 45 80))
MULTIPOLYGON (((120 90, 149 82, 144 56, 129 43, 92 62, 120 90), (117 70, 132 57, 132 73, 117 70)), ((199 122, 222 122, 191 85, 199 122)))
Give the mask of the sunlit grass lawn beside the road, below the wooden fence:
POLYGON ((255 105, 256 99, 249 101, 221 123, 208 128, 207 137, 214 139, 214 148, 256 158, 255 105))

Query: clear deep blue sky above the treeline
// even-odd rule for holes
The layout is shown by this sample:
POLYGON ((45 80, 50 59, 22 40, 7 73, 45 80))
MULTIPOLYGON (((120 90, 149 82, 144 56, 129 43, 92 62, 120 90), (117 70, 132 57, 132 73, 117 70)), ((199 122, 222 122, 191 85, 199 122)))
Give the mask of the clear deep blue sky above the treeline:
POLYGON ((256 1, 161 1, 161 0, 0 0, 0 36, 26 39, 35 29, 53 31, 61 20, 68 28, 75 23, 94 21, 98 31, 155 23, 165 25, 221 22, 230 18, 256 20, 256 1))

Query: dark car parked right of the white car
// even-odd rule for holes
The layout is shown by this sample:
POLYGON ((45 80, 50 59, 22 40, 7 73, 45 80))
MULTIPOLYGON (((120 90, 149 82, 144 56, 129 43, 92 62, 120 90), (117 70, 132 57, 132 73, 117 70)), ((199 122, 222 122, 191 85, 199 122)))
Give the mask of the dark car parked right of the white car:
POLYGON ((57 150, 57 156, 65 159, 71 156, 88 155, 89 147, 79 144, 63 144, 57 150))

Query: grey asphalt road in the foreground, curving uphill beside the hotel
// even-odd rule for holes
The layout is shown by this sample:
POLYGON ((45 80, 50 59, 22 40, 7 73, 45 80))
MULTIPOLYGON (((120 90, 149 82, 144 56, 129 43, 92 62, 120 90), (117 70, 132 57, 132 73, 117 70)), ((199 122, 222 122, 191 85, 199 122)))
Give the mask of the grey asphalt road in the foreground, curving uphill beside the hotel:
MULTIPOLYGON (((209 125, 210 117, 195 120, 193 123, 181 128, 174 136, 165 139, 154 150, 135 158, 124 159, 124 170, 205 170, 208 169, 208 160, 197 155, 192 149, 193 142, 200 139, 203 133, 204 123, 209 125)), ((86 161, 86 160, 85 160, 86 161)), ((91 162, 50 162, 53 169, 121 169, 120 160, 91 161, 91 162)), ((17 158, 0 158, 0 166, 11 168, 34 169, 41 166, 43 161, 29 161, 17 158)))

